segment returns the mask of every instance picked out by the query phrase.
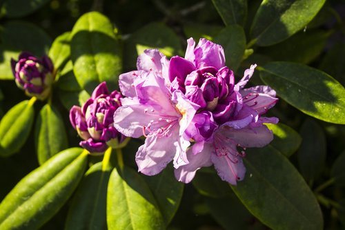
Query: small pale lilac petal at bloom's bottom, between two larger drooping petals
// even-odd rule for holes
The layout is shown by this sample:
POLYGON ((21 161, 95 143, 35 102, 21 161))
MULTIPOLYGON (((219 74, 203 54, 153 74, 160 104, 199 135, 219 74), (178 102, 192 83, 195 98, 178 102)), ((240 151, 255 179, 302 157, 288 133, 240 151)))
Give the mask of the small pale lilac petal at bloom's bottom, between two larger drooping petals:
POLYGON ((202 151, 197 154, 193 154, 192 149, 187 151, 188 164, 179 166, 175 169, 175 178, 180 182, 189 183, 195 177, 195 173, 201 167, 211 166, 210 160, 211 152, 214 150, 212 144, 203 143, 202 151))

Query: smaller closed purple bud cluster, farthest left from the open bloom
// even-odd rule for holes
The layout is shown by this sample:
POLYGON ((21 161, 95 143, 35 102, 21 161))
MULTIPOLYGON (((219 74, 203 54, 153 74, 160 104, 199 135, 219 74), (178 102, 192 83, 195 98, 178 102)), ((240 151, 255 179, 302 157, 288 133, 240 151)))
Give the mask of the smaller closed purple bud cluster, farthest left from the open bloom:
POLYGON ((17 86, 25 90, 26 95, 41 100, 48 97, 55 77, 48 56, 38 59, 29 52, 21 52, 18 61, 11 59, 11 67, 17 86))

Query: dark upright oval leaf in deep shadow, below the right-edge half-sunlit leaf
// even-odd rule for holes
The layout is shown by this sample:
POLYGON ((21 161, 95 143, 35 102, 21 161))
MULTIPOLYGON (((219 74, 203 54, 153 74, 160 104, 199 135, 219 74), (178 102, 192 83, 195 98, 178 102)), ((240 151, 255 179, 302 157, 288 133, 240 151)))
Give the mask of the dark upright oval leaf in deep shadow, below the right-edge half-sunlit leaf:
POLYGON ((310 182, 324 171, 326 136, 322 127, 313 119, 306 119, 299 133, 302 135, 302 144, 297 152, 299 170, 306 181, 310 182))

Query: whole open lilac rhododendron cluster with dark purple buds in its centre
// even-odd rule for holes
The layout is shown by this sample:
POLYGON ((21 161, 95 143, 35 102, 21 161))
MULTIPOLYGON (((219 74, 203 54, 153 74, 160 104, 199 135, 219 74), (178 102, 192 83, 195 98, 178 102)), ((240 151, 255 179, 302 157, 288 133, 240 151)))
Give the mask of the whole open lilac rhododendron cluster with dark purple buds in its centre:
POLYGON ((224 50, 206 39, 188 39, 185 57, 168 60, 158 50, 145 50, 137 70, 119 77, 122 106, 114 126, 128 137, 146 137, 136 162, 146 175, 159 173, 173 161, 175 177, 190 182, 203 166, 214 165, 222 180, 244 178, 245 149, 273 140, 262 117, 277 102, 268 86, 244 88, 256 65, 235 84, 225 66, 224 50))

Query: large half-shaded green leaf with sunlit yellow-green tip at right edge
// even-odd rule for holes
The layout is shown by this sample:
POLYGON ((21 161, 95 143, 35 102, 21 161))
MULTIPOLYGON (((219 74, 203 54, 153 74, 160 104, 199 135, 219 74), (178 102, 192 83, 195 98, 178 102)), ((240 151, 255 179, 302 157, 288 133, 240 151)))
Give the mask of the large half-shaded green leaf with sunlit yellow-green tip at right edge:
POLYGON ((259 68, 265 84, 288 104, 325 122, 345 124, 345 88, 315 68, 277 61, 259 68))

